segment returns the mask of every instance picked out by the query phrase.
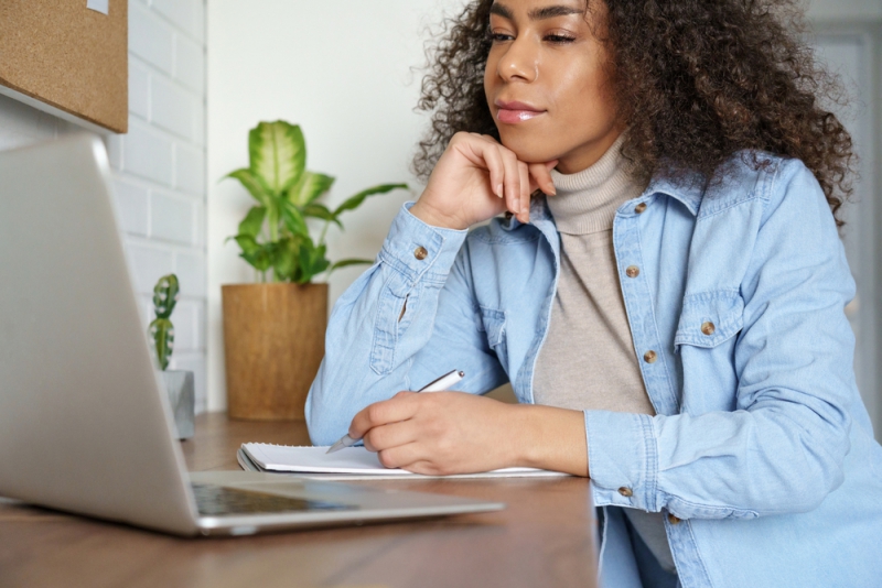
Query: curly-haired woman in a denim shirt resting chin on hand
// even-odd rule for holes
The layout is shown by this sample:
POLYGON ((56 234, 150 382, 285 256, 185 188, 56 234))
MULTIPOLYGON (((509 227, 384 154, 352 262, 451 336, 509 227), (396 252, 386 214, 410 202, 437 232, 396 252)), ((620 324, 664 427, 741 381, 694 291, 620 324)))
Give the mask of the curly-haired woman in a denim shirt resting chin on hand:
POLYGON ((313 442, 588 476, 606 586, 878 585, 851 140, 787 6, 469 6, 423 84, 427 188, 331 317, 313 442), (505 381, 520 404, 480 395, 505 381))

